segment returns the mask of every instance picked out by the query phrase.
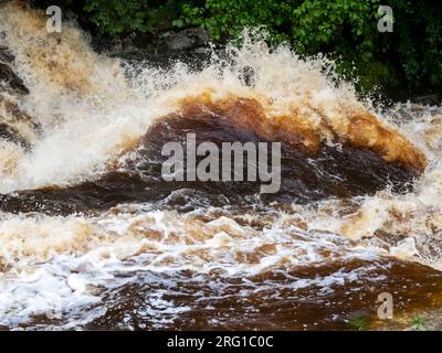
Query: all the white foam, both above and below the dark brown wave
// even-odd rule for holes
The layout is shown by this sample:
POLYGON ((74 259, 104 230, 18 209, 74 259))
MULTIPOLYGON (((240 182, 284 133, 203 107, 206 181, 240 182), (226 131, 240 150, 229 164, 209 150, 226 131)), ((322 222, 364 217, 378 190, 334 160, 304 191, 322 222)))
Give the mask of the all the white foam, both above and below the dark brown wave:
MULTIPOLYGON (((329 68, 324 58, 301 60, 285 47, 270 51, 248 36, 243 47, 230 49, 232 63, 214 57, 201 72, 183 64, 169 72, 147 65, 128 79, 118 61, 93 53, 75 28, 63 31, 59 47, 56 36, 49 36, 41 25, 41 15, 13 4, 2 7, 0 31, 7 33, 17 57, 14 68, 30 88, 22 107, 44 130, 31 152, 0 146, 3 193, 96 178, 130 150, 155 119, 175 111, 180 99, 208 90, 213 98, 257 99, 270 117, 297 106, 312 125, 319 124, 318 113, 339 126, 347 111, 370 108, 356 98, 351 84, 336 82, 333 71, 332 77, 324 74, 329 68), (44 56, 45 50, 52 56, 44 56), (54 61, 53 75, 49 60, 54 61), (240 78, 245 66, 255 73, 253 87, 240 78)), ((430 160, 415 190, 358 197, 350 211, 339 201, 293 205, 293 213, 273 216, 263 229, 250 225, 259 215, 244 215, 249 225, 242 226, 222 210, 221 217, 210 221, 147 212, 143 205, 96 217, 1 213, 0 324, 27 322, 36 314, 56 317, 99 302, 103 288, 129 280, 117 276, 122 271, 219 271, 242 277, 337 259, 373 260, 387 250, 435 266, 442 258, 430 248, 442 229, 438 159, 442 128, 435 115, 428 110, 398 126, 430 160), (403 234, 414 244, 398 244, 398 235, 403 234), (376 238, 382 246, 370 243, 376 238)), ((387 115, 388 120, 394 121, 387 115)), ((293 286, 322 284, 327 289, 357 280, 358 275, 357 270, 351 276, 336 272, 293 286)))

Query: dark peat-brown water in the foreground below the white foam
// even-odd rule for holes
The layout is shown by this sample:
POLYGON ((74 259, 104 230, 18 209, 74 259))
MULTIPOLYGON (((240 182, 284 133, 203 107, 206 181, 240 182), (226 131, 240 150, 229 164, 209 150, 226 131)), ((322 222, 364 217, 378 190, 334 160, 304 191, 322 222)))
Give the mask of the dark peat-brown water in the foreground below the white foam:
MULTIPOLYGON (((86 321, 80 327, 87 330, 404 330, 412 328, 413 318, 442 304, 439 271, 386 259, 316 264, 246 278, 186 271, 131 276, 128 284, 104 291, 98 304, 64 319, 35 317, 21 327, 86 321), (382 292, 393 295, 396 320, 378 318, 382 292)), ((428 325, 441 328, 438 321, 428 325)))

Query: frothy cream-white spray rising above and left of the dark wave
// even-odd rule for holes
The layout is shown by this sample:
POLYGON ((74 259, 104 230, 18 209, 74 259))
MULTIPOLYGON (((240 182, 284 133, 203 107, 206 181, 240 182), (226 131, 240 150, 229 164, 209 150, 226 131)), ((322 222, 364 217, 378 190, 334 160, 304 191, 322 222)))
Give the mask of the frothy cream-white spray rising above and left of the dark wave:
POLYGON ((126 69, 127 78, 119 61, 95 54, 75 26, 49 34, 41 13, 14 2, 2 8, 0 31, 30 89, 22 108, 43 126, 32 150, 15 153, 15 167, 2 175, 3 193, 76 184, 98 175, 156 118, 176 110, 181 99, 208 90, 213 99, 255 98, 270 116, 297 106, 312 120, 318 118, 313 108, 339 119, 344 110, 362 108, 351 85, 335 87, 336 79, 324 73, 330 63, 301 60, 283 46, 271 51, 246 31, 240 49, 231 46, 225 60, 213 54, 202 71, 182 63, 170 71, 147 65, 126 69), (253 87, 241 78, 244 68, 254 73, 253 87))

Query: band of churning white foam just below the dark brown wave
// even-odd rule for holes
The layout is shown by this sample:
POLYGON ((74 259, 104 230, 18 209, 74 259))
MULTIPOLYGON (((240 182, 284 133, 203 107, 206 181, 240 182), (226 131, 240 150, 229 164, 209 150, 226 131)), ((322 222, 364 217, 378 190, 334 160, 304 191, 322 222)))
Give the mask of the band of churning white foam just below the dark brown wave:
MULTIPOLYGON (((227 216, 202 221, 198 214, 129 210, 92 218, 1 214, 0 265, 7 270, 0 275, 0 324, 98 302, 103 288, 130 280, 116 272, 190 270, 234 277, 379 256, 337 235, 306 233, 284 217, 256 231, 227 216)), ((328 288, 343 278, 335 274, 322 280, 294 286, 328 288)))

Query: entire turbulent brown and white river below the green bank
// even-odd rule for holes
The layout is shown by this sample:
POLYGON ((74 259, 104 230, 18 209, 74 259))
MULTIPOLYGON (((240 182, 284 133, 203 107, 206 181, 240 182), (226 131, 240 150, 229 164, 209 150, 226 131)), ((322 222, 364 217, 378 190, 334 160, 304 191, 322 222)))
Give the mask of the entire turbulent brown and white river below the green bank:
POLYGON ((0 4, 0 328, 441 329, 441 138, 246 34, 160 68, 0 4), (164 181, 188 132, 282 142, 281 191, 164 181))

